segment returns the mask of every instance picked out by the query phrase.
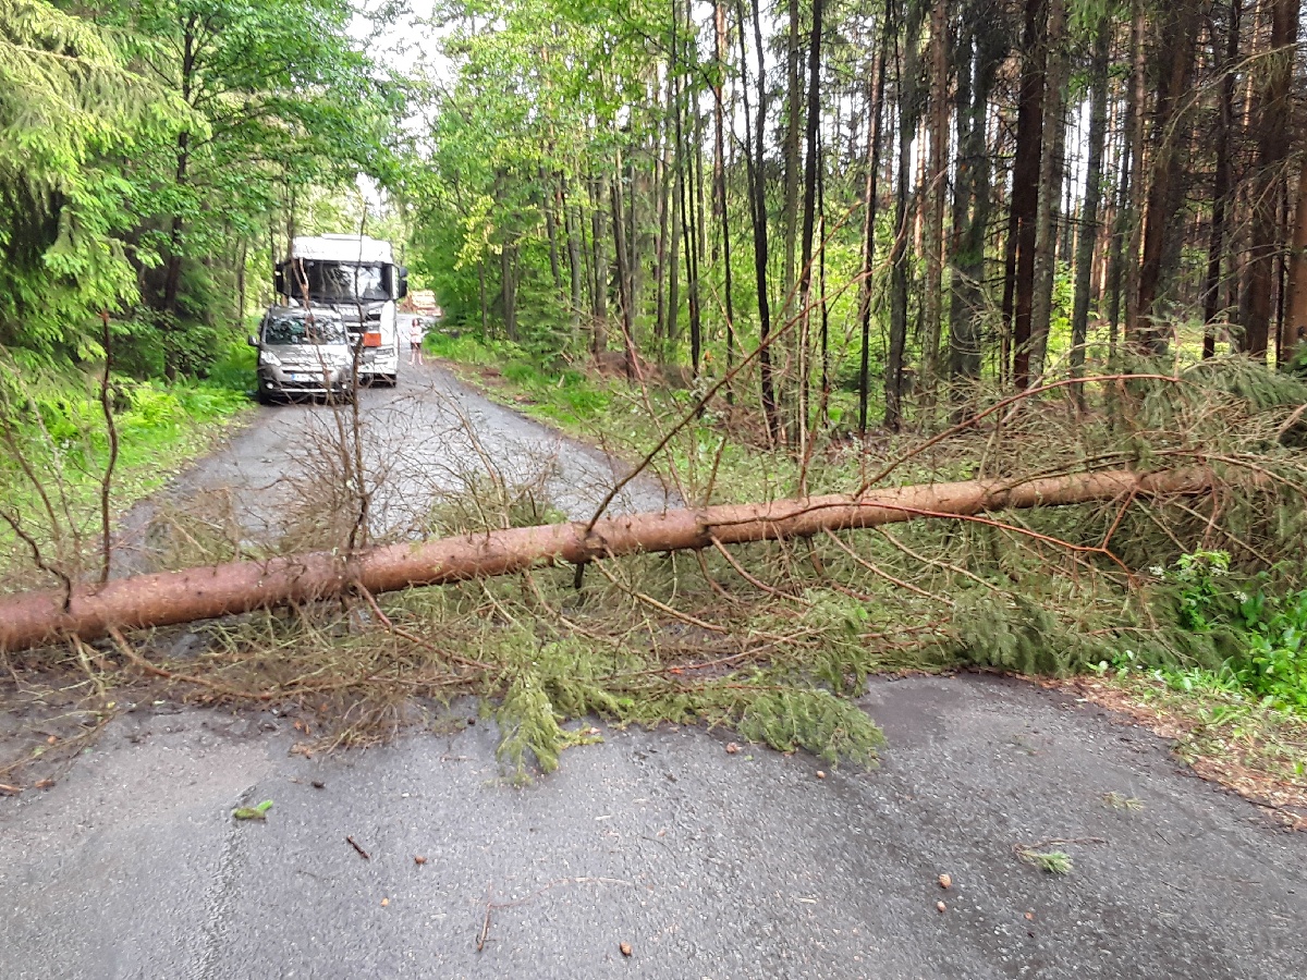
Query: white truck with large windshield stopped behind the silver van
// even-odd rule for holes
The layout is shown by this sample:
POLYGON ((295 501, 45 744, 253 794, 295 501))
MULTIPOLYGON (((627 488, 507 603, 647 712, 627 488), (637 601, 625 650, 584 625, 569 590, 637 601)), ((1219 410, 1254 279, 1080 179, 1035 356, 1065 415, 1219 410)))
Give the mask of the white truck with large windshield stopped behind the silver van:
POLYGON ((396 303, 408 294, 408 269, 395 264, 389 242, 367 235, 303 235, 273 277, 280 295, 297 306, 340 314, 361 346, 358 380, 393 385, 399 380, 400 337, 396 303))

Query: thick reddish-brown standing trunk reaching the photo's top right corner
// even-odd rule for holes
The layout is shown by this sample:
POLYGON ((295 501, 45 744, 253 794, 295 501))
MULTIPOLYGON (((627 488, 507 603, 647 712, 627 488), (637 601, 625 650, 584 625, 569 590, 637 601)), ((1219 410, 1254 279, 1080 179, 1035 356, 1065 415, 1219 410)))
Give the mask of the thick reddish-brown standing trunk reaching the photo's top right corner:
POLYGON ((1289 120, 1293 114, 1290 84, 1294 77, 1294 44, 1298 41, 1298 0, 1269 0, 1270 51, 1257 74, 1257 171, 1249 248, 1249 297, 1244 349, 1266 359, 1270 332, 1273 269, 1278 251, 1276 183, 1289 155, 1289 120))

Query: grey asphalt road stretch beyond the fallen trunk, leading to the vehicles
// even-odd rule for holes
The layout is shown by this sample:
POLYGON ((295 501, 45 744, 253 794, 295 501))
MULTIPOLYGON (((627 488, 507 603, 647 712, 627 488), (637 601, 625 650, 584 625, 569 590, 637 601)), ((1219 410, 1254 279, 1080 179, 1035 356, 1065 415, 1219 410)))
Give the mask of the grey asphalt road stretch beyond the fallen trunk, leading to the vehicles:
MULTIPOLYGON (((627 472, 604 453, 498 405, 438 365, 401 367, 396 388, 359 392, 365 483, 374 540, 422 537, 434 498, 493 477, 510 487, 537 486, 538 498, 572 520, 588 519, 627 472)), ((328 510, 323 487, 339 486, 353 459, 353 412, 322 402, 264 406, 212 456, 182 473, 122 523, 116 574, 153 571, 165 550, 152 527, 170 510, 222 524, 227 536, 269 544, 293 515, 328 510)), ((603 433, 596 433, 600 442, 603 433)), ((652 476, 633 481, 613 512, 680 506, 652 476)))

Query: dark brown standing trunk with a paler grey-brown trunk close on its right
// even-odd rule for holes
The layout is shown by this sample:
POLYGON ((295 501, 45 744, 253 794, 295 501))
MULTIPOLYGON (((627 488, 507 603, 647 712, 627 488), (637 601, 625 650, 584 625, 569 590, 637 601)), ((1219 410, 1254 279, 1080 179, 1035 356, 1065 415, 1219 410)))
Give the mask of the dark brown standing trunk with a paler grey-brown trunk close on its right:
POLYGON ((1043 149, 1044 74, 1048 64, 1047 0, 1026 0, 1021 88, 1017 106, 1017 155, 1012 165, 1012 212, 1004 276, 1004 320, 1012 323, 1013 368, 1018 388, 1030 382, 1030 316, 1035 278, 1035 221, 1039 212, 1039 163, 1043 149))

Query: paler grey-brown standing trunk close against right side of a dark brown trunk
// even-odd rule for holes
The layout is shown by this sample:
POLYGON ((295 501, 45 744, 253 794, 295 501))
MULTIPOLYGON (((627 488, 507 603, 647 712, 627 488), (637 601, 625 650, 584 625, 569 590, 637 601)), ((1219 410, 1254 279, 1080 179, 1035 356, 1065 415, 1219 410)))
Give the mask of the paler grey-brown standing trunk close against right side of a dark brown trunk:
POLYGON ((1057 272, 1057 206, 1061 203, 1063 155, 1067 149, 1067 5, 1047 0, 1047 74, 1043 145, 1039 149, 1039 206, 1035 209, 1034 289, 1030 297, 1030 379, 1043 378, 1057 272))

